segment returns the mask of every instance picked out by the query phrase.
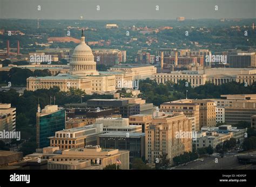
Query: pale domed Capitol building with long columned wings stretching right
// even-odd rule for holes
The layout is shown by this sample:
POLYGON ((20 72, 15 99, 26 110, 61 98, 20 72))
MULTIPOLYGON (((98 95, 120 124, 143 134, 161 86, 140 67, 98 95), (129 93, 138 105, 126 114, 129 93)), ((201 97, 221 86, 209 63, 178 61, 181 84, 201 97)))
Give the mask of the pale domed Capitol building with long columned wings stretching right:
MULTIPOLYGON (((26 89, 35 91, 37 89, 50 89, 54 86, 60 91, 68 91, 69 88, 79 88, 86 94, 116 92, 118 84, 132 82, 152 76, 156 73, 153 66, 130 67, 119 66, 111 68, 110 71, 97 71, 96 62, 91 48, 85 43, 84 33, 80 44, 74 49, 70 61, 69 73, 59 73, 56 76, 29 77, 26 89)), ((130 85, 132 88, 132 85, 130 85)), ((120 89, 120 88, 119 88, 120 89)))

